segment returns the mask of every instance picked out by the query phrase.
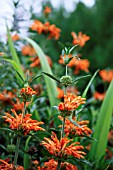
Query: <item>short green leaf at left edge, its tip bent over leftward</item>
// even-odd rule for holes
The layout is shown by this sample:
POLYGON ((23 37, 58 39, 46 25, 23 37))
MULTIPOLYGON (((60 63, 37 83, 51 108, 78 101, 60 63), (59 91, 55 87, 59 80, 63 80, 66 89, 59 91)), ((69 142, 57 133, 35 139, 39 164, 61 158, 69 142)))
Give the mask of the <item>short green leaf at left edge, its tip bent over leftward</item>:
POLYGON ((16 73, 17 73, 17 79, 19 78, 19 80, 23 83, 25 78, 23 77, 23 75, 21 74, 21 71, 20 71, 20 68, 18 66, 18 64, 14 61, 14 60, 11 60, 11 59, 3 59, 9 63, 11 63, 11 65, 14 67, 16 73))

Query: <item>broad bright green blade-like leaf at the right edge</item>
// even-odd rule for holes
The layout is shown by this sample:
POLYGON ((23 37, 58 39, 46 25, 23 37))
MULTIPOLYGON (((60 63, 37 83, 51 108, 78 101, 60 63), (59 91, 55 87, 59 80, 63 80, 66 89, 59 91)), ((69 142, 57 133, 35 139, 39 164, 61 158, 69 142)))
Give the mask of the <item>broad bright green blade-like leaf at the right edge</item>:
MULTIPOLYGON (((97 142, 93 142, 89 156, 91 159, 98 159, 104 156, 107 147, 108 132, 112 119, 113 111, 113 81, 110 83, 106 96, 98 113, 97 123, 94 129, 93 137, 97 142)), ((97 161, 97 164, 98 164, 97 161)))

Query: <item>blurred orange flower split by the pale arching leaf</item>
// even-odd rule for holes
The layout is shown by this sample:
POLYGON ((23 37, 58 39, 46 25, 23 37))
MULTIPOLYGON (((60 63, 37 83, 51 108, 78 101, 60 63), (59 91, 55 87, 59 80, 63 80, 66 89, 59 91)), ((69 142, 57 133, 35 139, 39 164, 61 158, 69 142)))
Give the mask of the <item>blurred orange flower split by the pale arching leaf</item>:
MULTIPOLYGON (((49 63, 49 65, 52 67, 52 60, 49 56, 46 55, 46 59, 49 63)), ((37 57, 35 58, 31 58, 30 59, 32 61, 32 63, 30 64, 30 67, 36 67, 36 66, 40 66, 40 59, 37 57)))

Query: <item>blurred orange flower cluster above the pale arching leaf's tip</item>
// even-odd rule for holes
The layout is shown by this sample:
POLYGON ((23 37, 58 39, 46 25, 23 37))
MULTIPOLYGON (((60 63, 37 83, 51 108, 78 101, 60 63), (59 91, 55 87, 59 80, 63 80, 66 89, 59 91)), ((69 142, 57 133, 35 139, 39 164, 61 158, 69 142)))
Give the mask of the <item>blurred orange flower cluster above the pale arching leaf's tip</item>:
POLYGON ((31 30, 37 31, 38 34, 49 34, 48 38, 59 39, 61 30, 57 28, 54 24, 50 25, 49 22, 45 22, 44 24, 39 21, 35 20, 34 23, 31 25, 31 30))

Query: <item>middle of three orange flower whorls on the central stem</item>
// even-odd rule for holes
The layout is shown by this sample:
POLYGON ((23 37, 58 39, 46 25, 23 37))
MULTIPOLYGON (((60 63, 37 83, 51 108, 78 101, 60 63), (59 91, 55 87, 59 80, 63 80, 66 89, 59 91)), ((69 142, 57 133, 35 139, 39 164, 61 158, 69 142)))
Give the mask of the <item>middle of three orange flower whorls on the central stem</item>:
MULTIPOLYGON (((60 120, 63 120, 61 116, 59 116, 60 120)), ((87 127, 87 124, 89 123, 88 120, 82 120, 81 122, 78 122, 75 118, 73 120, 79 125, 76 126, 72 122, 70 122, 69 119, 65 119, 65 126, 64 126, 64 132, 66 133, 66 136, 68 135, 87 135, 89 136, 92 131, 87 127)), ((61 126, 60 126, 61 127, 61 126)))

